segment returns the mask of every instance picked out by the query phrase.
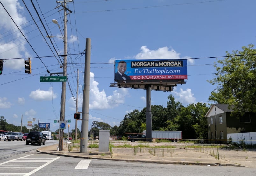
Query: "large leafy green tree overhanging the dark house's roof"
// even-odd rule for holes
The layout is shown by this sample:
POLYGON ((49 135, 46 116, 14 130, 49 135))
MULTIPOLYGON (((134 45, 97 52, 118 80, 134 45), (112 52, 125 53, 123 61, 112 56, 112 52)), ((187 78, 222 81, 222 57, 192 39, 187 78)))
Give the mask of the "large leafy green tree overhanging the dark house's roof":
POLYGON ((226 58, 216 64, 216 78, 209 82, 217 84, 211 92, 210 101, 234 105, 234 114, 256 113, 256 49, 254 45, 243 46, 243 51, 226 52, 226 58), (239 56, 232 56, 239 55, 239 56), (221 66, 219 66, 221 64, 221 66))

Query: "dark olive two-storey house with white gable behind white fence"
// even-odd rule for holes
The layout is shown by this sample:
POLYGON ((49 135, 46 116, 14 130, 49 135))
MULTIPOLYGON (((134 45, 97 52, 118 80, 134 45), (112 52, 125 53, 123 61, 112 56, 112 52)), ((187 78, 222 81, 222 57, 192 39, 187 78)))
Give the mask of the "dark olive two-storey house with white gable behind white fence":
POLYGON ((228 143, 227 134, 231 133, 256 132, 255 114, 245 113, 242 117, 234 117, 230 116, 232 111, 228 104, 211 105, 205 115, 209 143, 228 143))

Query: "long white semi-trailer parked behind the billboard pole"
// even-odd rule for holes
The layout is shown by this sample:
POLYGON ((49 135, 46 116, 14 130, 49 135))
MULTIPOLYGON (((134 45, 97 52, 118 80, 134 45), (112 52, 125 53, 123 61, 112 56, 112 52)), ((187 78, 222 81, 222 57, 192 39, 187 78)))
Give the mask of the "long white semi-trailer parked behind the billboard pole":
MULTIPOLYGON (((146 135, 146 130, 143 130, 146 135)), ((152 131, 153 139, 171 139, 173 142, 179 142, 182 139, 182 131, 152 131)))

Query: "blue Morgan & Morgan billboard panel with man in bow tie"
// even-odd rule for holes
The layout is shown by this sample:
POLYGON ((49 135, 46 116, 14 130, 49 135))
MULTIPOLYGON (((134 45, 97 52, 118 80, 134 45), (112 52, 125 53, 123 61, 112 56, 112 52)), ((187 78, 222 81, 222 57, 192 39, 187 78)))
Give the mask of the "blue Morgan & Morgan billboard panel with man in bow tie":
POLYGON ((116 60, 115 81, 188 79, 187 60, 116 60))

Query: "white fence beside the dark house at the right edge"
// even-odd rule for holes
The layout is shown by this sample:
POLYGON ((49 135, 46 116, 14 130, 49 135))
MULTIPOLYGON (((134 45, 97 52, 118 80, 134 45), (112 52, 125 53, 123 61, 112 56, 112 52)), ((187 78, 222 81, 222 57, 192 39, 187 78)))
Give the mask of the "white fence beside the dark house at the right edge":
POLYGON ((244 141, 245 144, 256 144, 256 132, 230 133, 227 134, 228 139, 232 138, 232 142, 239 144, 244 141))

